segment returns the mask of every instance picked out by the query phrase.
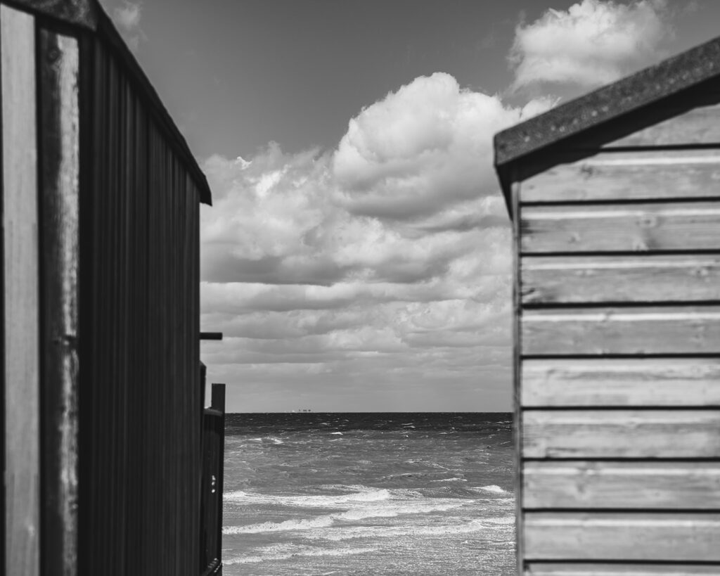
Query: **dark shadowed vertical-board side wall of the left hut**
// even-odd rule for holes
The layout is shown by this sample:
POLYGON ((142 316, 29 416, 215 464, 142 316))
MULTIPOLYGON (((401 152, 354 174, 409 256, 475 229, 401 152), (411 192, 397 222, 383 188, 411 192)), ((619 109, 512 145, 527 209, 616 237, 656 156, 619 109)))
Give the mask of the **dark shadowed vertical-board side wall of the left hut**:
POLYGON ((124 60, 87 40, 79 572, 194 576, 199 190, 124 60))

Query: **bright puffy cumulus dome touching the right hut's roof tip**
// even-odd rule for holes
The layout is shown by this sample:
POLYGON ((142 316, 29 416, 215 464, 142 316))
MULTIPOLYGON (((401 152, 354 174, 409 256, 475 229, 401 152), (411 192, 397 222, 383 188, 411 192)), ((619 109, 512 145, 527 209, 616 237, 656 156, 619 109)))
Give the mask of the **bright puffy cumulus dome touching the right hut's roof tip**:
POLYGON ((333 155, 336 202, 408 221, 496 194, 491 135, 526 115, 449 74, 415 78, 350 120, 333 155))

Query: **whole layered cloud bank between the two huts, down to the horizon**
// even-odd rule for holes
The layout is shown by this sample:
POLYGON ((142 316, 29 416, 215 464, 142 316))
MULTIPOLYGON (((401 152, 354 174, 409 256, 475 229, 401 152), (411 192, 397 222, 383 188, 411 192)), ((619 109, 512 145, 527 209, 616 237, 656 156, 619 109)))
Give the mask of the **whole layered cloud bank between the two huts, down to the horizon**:
POLYGON ((336 150, 208 158, 202 325, 225 333, 203 345, 210 377, 263 382, 255 400, 243 389, 258 410, 303 394, 315 410, 410 410, 410 394, 480 410, 479 387, 507 409, 510 229, 492 135, 548 106, 436 73, 362 109, 336 150))

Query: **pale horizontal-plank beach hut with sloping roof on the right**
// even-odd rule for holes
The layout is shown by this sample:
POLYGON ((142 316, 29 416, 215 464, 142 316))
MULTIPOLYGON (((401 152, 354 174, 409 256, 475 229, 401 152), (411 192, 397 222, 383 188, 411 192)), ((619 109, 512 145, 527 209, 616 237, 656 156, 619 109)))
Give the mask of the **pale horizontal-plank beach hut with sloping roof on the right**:
POLYGON ((518 573, 720 574, 720 38, 495 136, 518 573))

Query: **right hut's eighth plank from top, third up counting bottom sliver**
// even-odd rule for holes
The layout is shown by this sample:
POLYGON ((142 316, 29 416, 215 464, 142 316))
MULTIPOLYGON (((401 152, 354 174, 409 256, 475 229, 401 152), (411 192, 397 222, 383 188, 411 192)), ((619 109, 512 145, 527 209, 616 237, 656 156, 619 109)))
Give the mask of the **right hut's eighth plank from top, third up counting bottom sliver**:
POLYGON ((526 462, 524 508, 720 510, 720 462, 526 462))

